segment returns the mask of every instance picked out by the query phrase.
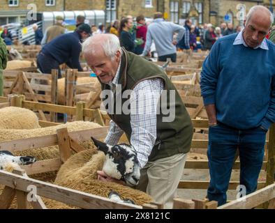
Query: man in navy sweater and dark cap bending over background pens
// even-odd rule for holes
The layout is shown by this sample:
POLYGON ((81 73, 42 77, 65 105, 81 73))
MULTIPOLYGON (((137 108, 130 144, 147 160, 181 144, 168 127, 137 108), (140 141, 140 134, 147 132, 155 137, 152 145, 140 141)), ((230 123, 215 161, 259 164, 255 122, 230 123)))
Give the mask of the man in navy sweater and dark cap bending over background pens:
POLYGON ((41 72, 50 74, 52 69, 59 70, 59 65, 66 63, 70 68, 82 71, 80 66, 81 42, 91 35, 91 27, 81 24, 73 33, 54 38, 38 54, 37 65, 41 72))

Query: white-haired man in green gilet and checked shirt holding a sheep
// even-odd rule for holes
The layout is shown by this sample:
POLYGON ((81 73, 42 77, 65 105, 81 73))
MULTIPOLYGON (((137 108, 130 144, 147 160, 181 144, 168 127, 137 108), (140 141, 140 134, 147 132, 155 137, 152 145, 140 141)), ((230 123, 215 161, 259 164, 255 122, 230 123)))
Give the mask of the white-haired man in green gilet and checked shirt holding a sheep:
MULTIPOLYGON (((140 164, 136 189, 172 208, 193 136, 179 93, 161 68, 121 48, 113 34, 88 38, 83 54, 102 84, 112 119, 105 142, 114 146, 125 132, 140 164)), ((103 171, 98 180, 113 181, 103 171)))

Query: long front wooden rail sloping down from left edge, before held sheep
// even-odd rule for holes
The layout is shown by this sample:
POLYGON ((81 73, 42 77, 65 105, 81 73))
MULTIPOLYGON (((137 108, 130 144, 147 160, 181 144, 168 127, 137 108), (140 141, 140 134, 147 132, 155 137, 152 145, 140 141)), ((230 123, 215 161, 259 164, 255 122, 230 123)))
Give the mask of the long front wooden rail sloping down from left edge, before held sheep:
POLYGON ((37 194, 40 197, 46 197, 60 201, 62 203, 70 204, 71 206, 77 206, 80 208, 98 208, 98 209, 117 209, 117 208, 134 208, 141 209, 141 206, 136 206, 127 203, 116 203, 110 199, 99 197, 96 195, 72 190, 66 187, 45 183, 40 180, 34 180, 31 178, 25 178, 6 171, 0 171, 0 184, 8 187, 14 187, 13 182, 17 182, 17 190, 27 192, 29 185, 37 187, 37 194))

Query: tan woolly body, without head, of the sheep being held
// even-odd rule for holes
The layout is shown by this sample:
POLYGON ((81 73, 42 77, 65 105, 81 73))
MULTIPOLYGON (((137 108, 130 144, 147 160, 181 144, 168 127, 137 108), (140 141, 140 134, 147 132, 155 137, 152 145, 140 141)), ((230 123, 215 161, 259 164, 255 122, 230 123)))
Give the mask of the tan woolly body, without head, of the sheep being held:
MULTIPOLYGON (((96 149, 82 151, 70 157, 59 169, 54 184, 80 190, 101 197, 108 197, 111 191, 118 192, 122 199, 131 199, 137 205, 149 203, 153 199, 146 193, 131 187, 97 180, 97 170, 103 168, 105 155, 96 149)), ((76 208, 50 199, 44 199, 48 208, 76 208)))

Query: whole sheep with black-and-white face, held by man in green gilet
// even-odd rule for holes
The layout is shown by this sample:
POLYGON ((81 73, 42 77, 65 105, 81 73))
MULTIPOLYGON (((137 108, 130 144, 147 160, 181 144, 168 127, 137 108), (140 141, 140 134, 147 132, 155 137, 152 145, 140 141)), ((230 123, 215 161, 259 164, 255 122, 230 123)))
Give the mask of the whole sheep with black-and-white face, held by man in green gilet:
MULTIPOLYGON (((54 184, 111 199, 114 193, 119 194, 123 202, 133 201, 137 205, 153 201, 148 194, 140 190, 97 180, 97 171, 103 169, 110 176, 125 180, 128 185, 136 185, 140 171, 137 167, 136 153, 131 146, 125 144, 107 146, 94 141, 105 154, 96 149, 89 149, 73 155, 59 169, 54 184)), ((47 208, 75 208, 50 199, 44 201, 47 208)))

